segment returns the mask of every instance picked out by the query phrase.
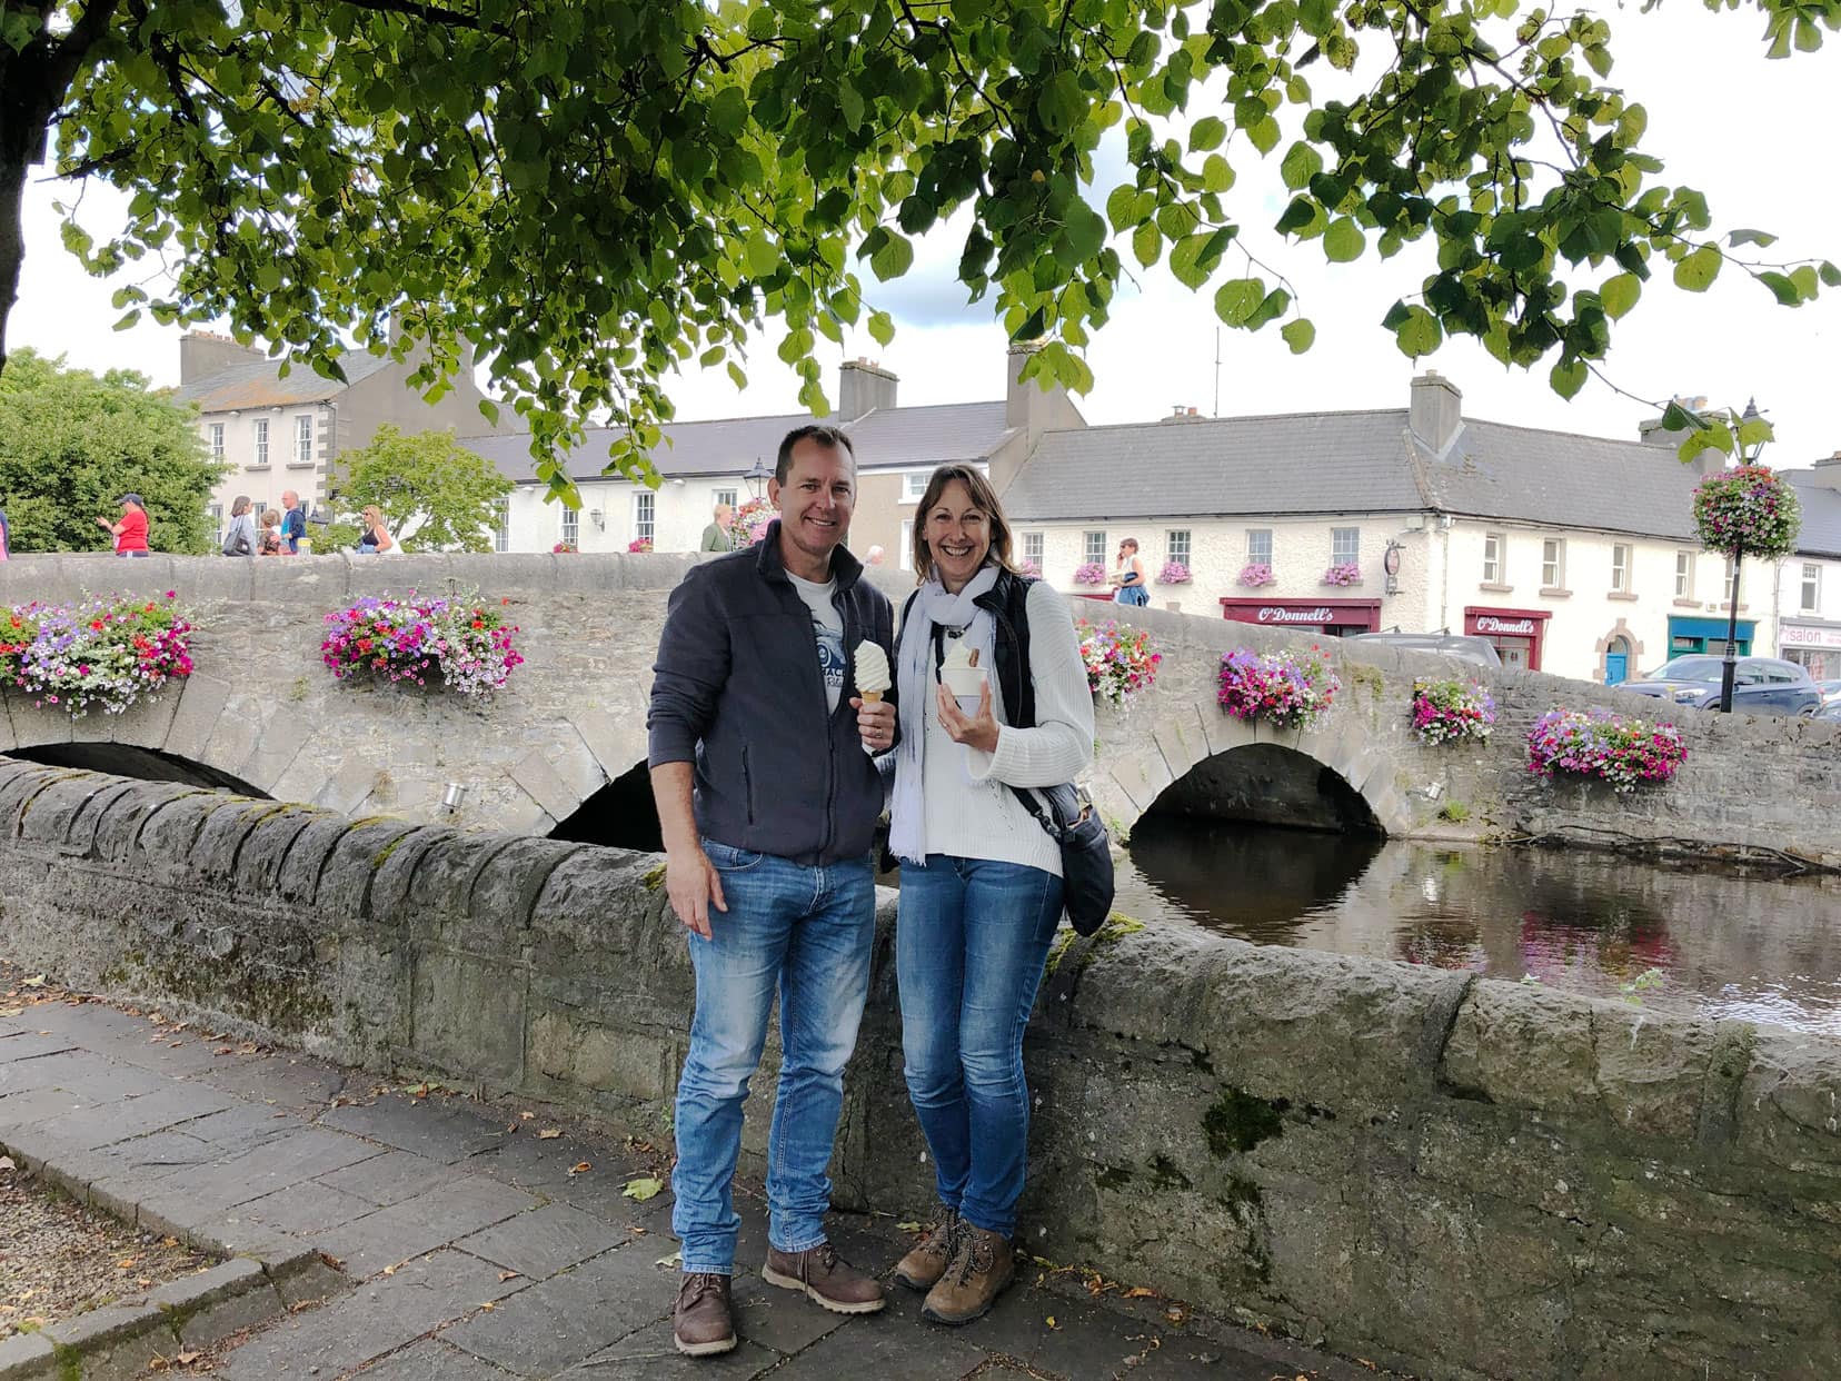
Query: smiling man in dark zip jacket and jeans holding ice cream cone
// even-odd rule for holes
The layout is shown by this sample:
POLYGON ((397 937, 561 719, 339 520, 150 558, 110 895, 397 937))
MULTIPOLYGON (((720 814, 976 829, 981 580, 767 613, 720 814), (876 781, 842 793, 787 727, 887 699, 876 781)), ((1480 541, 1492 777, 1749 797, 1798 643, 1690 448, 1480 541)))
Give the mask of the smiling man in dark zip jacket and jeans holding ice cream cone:
POLYGON ((856 505, 851 440, 797 427, 768 486, 766 540, 692 569, 672 591, 654 667, 648 766, 665 888, 696 970, 677 1081, 683 1278, 677 1350, 735 1348, 731 1186, 742 1101, 781 994, 781 1079, 768 1134, 770 1285, 836 1313, 873 1313, 882 1287, 825 1239, 843 1066, 869 992, 871 834, 893 714, 860 720, 852 654, 895 644, 893 609, 843 547, 856 505))

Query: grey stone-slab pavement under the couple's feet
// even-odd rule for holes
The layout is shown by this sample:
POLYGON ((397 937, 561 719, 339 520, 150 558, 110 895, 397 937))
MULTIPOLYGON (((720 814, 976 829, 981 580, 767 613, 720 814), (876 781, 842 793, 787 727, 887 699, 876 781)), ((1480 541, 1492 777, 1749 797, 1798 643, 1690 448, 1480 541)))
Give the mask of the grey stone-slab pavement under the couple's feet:
MULTIPOLYGON (((306 1243, 337 1263, 320 1291, 307 1291, 326 1293, 324 1302, 295 1302, 166 1375, 1372 1375, 1046 1263, 1025 1267, 987 1318, 961 1329, 920 1320, 919 1296, 900 1287, 880 1315, 828 1315, 757 1274, 766 1250, 758 1186, 742 1195, 735 1296, 744 1340, 692 1363, 672 1350, 670 1190, 626 1193, 633 1180, 663 1177, 652 1147, 541 1108, 383 1086, 133 1007, 17 1002, 0 1002, 7 1153, 87 1186, 110 1212, 260 1241, 265 1258, 272 1243, 306 1243)), ((911 1236, 887 1217, 838 1213, 832 1239, 847 1259, 886 1274, 911 1236)))

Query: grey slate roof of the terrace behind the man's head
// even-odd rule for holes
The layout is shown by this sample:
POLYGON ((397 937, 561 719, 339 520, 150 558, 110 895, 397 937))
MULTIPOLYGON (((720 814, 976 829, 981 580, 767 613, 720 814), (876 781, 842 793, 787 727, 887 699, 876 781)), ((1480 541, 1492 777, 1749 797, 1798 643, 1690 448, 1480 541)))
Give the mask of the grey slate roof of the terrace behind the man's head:
MULTIPOLYGON (((843 422, 856 447, 862 470, 891 470, 909 466, 937 466, 946 460, 981 460, 1003 438, 1005 405, 996 403, 937 403, 933 407, 871 409, 862 418, 843 422)), ((781 438, 793 427, 812 422, 806 412, 786 412, 764 418, 724 418, 720 422, 674 422, 665 427, 668 446, 652 453, 659 473, 740 475, 755 464, 755 457, 771 470, 781 438)), ((596 479, 608 466, 608 447, 615 433, 595 427, 587 440, 569 455, 571 479, 596 479)), ((466 436, 462 446, 492 460, 499 471, 519 484, 536 481, 536 462, 530 458, 530 436, 466 436)))

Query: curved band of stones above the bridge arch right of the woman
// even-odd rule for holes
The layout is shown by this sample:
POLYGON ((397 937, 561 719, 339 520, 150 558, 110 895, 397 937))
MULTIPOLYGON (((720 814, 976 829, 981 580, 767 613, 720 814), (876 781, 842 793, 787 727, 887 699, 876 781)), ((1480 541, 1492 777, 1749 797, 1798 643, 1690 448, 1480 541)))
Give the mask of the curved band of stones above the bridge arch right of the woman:
POLYGON ((1412 829, 1392 753, 1348 722, 1314 729, 1245 724, 1206 702, 1158 705, 1116 720, 1101 740, 1092 795, 1114 829, 1130 829, 1165 790, 1197 766, 1246 748, 1278 748, 1326 768, 1348 786, 1383 834, 1412 829))

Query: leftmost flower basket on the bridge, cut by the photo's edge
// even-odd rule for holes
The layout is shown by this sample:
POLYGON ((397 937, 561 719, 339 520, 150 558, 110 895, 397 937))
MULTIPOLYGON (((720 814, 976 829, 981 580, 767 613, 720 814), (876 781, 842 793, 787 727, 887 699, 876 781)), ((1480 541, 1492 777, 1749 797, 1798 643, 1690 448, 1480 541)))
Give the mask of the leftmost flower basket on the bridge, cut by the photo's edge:
POLYGON ((191 622, 179 593, 22 604, 0 619, 0 685, 79 720, 120 714, 191 676, 191 622))

